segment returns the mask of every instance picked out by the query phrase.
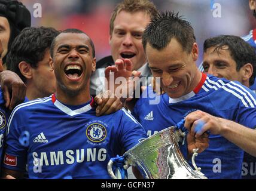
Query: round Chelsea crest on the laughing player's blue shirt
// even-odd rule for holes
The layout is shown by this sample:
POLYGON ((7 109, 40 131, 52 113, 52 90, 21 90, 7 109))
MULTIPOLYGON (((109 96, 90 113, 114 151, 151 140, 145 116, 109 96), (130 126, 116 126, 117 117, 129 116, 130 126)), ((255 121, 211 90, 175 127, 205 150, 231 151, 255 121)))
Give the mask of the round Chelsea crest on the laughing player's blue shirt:
POLYGON ((99 123, 90 124, 86 129, 86 136, 90 141, 99 143, 106 138, 106 128, 99 123))

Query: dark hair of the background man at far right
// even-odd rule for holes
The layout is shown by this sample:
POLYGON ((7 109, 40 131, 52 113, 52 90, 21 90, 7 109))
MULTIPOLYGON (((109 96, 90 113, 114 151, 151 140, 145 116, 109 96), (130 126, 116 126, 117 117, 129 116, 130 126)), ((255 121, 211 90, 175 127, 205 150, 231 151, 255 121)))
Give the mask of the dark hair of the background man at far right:
POLYGON ((203 43, 203 52, 205 53, 208 48, 215 47, 214 51, 219 53, 219 50, 228 50, 230 56, 236 62, 237 72, 247 63, 251 63, 253 67, 252 76, 249 79, 249 85, 254 84, 256 75, 256 53, 247 42, 239 36, 233 35, 220 35, 214 38, 208 38, 203 43), (227 48, 224 48, 227 46, 227 48))

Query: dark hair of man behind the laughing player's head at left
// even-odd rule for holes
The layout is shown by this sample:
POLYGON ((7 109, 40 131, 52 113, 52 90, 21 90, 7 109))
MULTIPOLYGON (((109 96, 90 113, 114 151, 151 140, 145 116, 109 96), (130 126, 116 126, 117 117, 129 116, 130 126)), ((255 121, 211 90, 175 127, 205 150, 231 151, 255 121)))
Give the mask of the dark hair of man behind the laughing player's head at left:
POLYGON ((39 61, 44 59, 47 48, 50 49, 51 42, 59 34, 51 27, 28 27, 22 30, 14 39, 7 55, 7 69, 11 70, 26 82, 25 76, 19 69, 19 63, 26 61, 31 67, 38 67, 39 61))

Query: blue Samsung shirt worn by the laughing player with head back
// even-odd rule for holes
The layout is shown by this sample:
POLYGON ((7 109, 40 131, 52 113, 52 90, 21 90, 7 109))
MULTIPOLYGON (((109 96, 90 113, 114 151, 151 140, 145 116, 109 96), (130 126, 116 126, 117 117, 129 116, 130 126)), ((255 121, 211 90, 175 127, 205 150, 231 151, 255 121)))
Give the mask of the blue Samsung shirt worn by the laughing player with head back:
POLYGON ((90 103, 67 106, 53 95, 17 106, 8 122, 4 167, 24 172, 28 163, 29 178, 110 178, 109 159, 147 134, 125 109, 97 117, 90 103), (24 132, 28 145, 19 142, 24 132))

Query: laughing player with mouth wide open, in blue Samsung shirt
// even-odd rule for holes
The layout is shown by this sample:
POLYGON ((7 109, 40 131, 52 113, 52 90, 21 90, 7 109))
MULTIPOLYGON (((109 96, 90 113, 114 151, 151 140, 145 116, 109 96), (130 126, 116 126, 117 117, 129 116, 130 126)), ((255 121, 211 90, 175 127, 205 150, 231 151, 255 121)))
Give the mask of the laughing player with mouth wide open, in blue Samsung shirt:
POLYGON ((17 106, 10 116, 4 177, 110 178, 106 165, 147 137, 133 116, 121 109, 96 116, 89 94, 95 50, 86 33, 67 29, 51 45, 56 94, 17 106), (29 133, 28 144, 19 138, 29 133), (9 175, 9 176, 8 176, 9 175))

